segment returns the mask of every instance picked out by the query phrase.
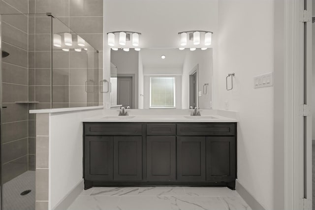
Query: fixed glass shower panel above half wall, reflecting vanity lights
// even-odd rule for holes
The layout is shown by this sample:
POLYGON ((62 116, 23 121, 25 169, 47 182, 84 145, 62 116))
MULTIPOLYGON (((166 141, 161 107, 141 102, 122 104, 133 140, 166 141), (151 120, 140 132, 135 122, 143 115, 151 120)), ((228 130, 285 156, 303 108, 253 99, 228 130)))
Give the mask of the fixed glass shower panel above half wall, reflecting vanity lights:
POLYGON ((98 51, 57 18, 53 22, 53 108, 98 106, 98 51))

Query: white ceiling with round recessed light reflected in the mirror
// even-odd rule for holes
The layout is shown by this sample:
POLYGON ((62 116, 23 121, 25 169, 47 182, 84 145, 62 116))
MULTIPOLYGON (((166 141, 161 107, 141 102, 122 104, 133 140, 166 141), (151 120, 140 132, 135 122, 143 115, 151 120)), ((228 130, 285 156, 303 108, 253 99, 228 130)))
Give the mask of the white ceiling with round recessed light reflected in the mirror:
POLYGON ((178 49, 142 49, 140 55, 144 67, 182 67, 186 51, 178 49), (161 59, 162 55, 165 55, 165 59, 161 59))

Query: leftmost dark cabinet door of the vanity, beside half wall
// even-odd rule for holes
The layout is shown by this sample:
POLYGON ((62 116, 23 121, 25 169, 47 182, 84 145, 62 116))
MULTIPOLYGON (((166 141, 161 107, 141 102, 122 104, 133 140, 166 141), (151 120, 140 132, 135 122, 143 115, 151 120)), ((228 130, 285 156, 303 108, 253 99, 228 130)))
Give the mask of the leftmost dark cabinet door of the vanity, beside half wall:
POLYGON ((113 180, 113 137, 86 136, 84 146, 86 180, 113 180))

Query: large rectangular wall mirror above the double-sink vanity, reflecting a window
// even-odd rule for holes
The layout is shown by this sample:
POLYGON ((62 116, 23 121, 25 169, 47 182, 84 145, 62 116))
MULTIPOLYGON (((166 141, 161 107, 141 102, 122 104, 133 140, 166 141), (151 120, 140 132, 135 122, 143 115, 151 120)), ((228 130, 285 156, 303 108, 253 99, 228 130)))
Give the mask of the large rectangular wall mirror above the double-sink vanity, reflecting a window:
POLYGON ((111 50, 112 108, 212 108, 212 48, 111 50))

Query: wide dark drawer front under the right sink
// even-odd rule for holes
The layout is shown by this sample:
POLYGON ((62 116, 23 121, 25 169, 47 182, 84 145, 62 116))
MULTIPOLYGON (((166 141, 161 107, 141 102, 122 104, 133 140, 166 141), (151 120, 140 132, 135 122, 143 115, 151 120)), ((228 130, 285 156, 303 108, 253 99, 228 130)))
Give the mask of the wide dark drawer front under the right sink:
POLYGON ((234 136, 235 123, 178 123, 177 135, 234 136))

